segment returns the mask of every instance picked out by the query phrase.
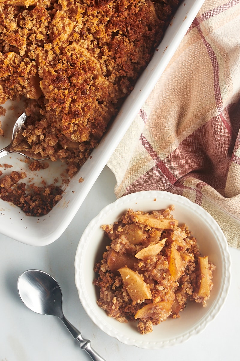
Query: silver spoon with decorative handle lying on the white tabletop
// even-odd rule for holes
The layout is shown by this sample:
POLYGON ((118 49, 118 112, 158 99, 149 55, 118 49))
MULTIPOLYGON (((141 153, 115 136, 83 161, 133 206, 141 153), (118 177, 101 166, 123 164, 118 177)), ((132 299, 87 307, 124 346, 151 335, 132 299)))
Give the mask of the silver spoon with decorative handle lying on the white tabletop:
POLYGON ((81 349, 85 350, 92 360, 105 361, 92 349, 90 340, 84 339, 81 332, 65 318, 62 310, 62 291, 53 277, 44 271, 25 271, 18 278, 18 293, 30 310, 60 318, 74 339, 79 341, 81 349))

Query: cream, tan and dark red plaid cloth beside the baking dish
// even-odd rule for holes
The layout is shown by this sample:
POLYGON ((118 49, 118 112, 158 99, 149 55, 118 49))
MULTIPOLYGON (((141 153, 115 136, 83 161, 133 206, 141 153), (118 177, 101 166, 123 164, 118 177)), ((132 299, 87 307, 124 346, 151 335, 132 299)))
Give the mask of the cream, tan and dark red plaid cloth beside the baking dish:
POLYGON ((206 0, 108 162, 117 198, 201 205, 240 249, 240 0, 206 0))

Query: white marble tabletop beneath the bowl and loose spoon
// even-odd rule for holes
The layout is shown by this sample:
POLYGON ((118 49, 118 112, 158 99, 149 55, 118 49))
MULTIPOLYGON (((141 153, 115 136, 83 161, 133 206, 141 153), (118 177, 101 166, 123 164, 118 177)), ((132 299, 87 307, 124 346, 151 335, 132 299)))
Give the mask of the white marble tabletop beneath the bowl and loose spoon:
POLYGON ((74 283, 74 257, 89 221, 116 200, 114 185, 114 175, 106 166, 67 230, 48 246, 32 247, 0 235, 0 361, 91 360, 59 319, 36 314, 19 299, 18 276, 31 268, 56 278, 63 291, 65 317, 91 340, 106 361, 239 360, 240 251, 233 248, 232 282, 225 305, 201 334, 181 345, 160 350, 124 345, 105 335, 89 319, 74 283))

